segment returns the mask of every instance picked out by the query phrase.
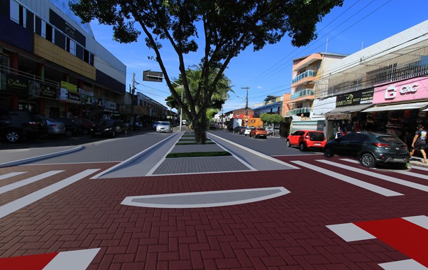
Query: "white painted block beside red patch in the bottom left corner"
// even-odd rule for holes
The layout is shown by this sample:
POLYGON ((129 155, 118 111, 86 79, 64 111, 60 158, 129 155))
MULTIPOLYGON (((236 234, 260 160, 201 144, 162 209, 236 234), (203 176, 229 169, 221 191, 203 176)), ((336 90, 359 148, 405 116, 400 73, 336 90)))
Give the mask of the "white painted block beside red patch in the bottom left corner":
POLYGON ((95 255, 101 248, 89 250, 72 250, 60 252, 56 255, 43 270, 85 270, 94 260, 95 255))

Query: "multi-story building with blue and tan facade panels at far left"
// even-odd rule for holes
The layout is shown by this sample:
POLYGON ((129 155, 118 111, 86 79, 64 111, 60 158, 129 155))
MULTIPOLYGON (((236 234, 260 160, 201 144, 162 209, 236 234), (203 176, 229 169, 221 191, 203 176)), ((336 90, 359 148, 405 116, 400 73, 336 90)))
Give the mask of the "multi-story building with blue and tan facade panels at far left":
POLYGON ((67 0, 0 0, 0 108, 51 117, 112 118, 126 66, 67 0))

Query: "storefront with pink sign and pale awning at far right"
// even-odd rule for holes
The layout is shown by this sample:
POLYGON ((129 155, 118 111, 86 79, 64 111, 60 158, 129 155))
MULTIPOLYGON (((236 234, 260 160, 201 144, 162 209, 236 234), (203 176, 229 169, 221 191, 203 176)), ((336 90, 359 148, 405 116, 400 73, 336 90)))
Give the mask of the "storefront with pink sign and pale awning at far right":
POLYGON ((413 138, 416 125, 427 128, 428 88, 425 85, 428 85, 428 78, 376 87, 374 106, 362 111, 373 122, 372 131, 394 134, 406 141, 408 137, 413 138))

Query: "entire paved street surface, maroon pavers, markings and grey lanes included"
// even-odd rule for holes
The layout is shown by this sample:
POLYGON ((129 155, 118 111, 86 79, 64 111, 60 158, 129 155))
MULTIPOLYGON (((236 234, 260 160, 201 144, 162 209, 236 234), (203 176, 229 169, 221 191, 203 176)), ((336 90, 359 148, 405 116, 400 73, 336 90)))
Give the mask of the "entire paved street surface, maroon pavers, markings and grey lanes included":
POLYGON ((1 168, 0 269, 427 269, 426 166, 364 169, 283 138, 210 132, 246 169, 143 176, 180 136, 1 168))

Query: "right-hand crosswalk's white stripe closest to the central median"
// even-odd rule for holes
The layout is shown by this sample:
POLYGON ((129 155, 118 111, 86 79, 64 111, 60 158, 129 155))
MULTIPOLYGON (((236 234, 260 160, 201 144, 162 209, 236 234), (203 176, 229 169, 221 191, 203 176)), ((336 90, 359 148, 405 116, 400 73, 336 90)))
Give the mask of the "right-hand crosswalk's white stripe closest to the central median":
POLYGON ((358 179, 355 179, 355 178, 352 178, 352 177, 349 177, 349 176, 345 176, 345 175, 343 175, 341 173, 335 173, 334 171, 329 171, 327 169, 324 169, 324 168, 321 168, 321 167, 318 167, 318 166, 314 166, 314 165, 311 165, 311 164, 308 164, 308 163, 305 163, 305 162, 301 162, 301 161, 298 161, 298 160, 297 161, 292 161, 292 162, 295 163, 295 164, 299 164, 300 166, 304 166, 304 167, 306 167, 308 169, 311 169, 313 171, 318 171, 319 173, 323 173, 323 174, 325 174, 327 176, 331 176, 331 177, 337 178, 338 180, 341 180, 343 182, 350 183, 351 185, 356 185, 357 187, 362 187, 365 190, 370 190, 371 192, 376 192, 376 193, 381 194, 381 195, 386 196, 386 197, 404 195, 404 194, 401 194, 399 192, 394 192, 393 190, 388 190, 388 189, 386 189, 384 187, 379 187, 379 186, 373 185, 371 183, 366 183, 366 182, 364 182, 362 180, 358 180, 358 179))

